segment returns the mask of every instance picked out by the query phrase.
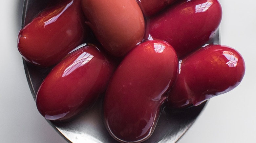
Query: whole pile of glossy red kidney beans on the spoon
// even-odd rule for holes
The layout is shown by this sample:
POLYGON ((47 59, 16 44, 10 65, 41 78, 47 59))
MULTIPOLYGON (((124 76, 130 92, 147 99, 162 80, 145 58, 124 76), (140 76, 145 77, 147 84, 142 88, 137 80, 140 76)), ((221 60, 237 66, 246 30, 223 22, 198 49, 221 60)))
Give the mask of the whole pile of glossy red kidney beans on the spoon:
POLYGON ((53 67, 36 95, 46 119, 70 120, 103 95, 109 133, 141 142, 162 106, 197 106, 241 82, 242 56, 210 42, 221 18, 217 0, 55 0, 21 29, 18 50, 53 67))

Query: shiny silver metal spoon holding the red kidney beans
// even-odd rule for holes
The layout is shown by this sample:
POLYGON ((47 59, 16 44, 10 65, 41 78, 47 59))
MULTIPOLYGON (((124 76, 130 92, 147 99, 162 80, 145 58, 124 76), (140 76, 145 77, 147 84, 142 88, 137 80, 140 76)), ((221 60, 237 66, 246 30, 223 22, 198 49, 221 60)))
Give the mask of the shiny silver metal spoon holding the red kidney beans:
MULTIPOLYGON (((50 0, 25 0, 22 16, 22 27, 28 24, 32 18, 46 7, 50 0)), ((219 32, 211 42, 220 42, 219 32)), ((40 69, 27 63, 23 59, 29 87, 35 99, 36 93, 45 76, 51 69, 40 69)), ((172 143, 177 142, 181 136, 191 127, 199 114, 203 111, 205 103, 188 109, 182 113, 167 114, 165 110, 161 113, 157 127, 153 135, 145 143, 172 143)), ((67 123, 57 123, 47 120, 49 124, 68 142, 95 142, 115 143, 115 139, 109 135, 104 127, 101 114, 101 100, 89 111, 81 113, 75 120, 67 123)))

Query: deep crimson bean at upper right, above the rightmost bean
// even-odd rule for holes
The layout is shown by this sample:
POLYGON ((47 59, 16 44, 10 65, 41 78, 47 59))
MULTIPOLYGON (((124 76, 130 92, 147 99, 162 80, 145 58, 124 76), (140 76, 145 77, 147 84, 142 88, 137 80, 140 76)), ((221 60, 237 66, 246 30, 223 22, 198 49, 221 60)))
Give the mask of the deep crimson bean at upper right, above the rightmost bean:
POLYGON ((149 34, 153 39, 170 43, 178 57, 182 57, 212 37, 221 18, 217 0, 181 0, 150 19, 149 34))

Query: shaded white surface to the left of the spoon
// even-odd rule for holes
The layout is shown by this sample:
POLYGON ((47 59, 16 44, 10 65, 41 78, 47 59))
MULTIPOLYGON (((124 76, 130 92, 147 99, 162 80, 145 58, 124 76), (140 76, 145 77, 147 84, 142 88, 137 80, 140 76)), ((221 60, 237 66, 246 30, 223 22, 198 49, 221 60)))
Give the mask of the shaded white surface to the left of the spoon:
POLYGON ((1 13, 0 142, 66 143, 38 113, 17 50, 21 0, 6 0, 1 13))

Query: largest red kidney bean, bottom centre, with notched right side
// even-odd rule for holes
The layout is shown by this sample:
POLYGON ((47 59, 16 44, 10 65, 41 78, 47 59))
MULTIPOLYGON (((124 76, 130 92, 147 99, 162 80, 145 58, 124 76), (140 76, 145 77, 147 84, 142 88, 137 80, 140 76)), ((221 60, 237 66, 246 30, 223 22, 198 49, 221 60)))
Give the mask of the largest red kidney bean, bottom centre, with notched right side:
POLYGON ((124 57, 104 99, 106 127, 115 139, 141 142, 152 134, 177 70, 174 49, 160 40, 140 43, 124 57))

